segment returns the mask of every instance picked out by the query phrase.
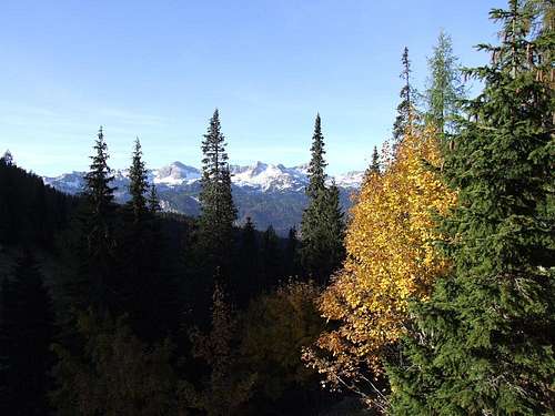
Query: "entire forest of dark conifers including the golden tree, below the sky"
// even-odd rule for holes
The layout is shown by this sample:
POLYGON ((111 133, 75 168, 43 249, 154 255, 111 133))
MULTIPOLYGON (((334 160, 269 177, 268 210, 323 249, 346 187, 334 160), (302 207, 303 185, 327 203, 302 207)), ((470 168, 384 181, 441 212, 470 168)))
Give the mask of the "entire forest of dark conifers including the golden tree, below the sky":
POLYGON ((346 210, 314 109, 286 235, 238 216, 223 109, 195 143, 198 216, 164 210, 140 139, 115 201, 109 125, 77 194, 6 151, 0 415, 554 415, 555 3, 490 24, 478 67, 438 33, 425 88, 398 51, 346 210))

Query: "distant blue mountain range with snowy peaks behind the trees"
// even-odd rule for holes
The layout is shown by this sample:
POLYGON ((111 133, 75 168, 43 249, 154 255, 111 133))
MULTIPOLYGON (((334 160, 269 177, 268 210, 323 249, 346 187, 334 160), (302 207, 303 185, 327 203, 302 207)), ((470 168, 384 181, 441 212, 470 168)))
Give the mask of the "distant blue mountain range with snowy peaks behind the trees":
MULTIPOLYGON (((306 206, 305 185, 309 182, 307 165, 285 168, 282 164, 256 162, 248 166, 231 165, 233 199, 239 211, 239 223, 248 216, 259 230, 272 225, 284 235, 301 222, 306 206)), ((129 172, 113 172, 118 202, 129 200, 129 172)), ((82 191, 84 172, 63 173, 59 176, 43 176, 46 184, 54 189, 77 194, 82 191)), ((364 172, 349 172, 330 177, 340 189, 341 203, 347 210, 351 196, 360 187, 364 172)), ((148 171, 150 183, 154 183, 162 210, 198 215, 200 212, 201 171, 181 162, 173 162, 160 169, 148 171)))

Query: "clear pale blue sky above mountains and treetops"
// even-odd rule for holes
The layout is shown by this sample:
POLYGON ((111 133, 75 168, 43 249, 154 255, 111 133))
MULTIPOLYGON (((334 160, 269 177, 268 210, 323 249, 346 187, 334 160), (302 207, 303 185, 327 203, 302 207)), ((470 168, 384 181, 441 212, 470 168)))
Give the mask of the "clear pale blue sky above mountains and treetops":
POLYGON ((199 166, 215 108, 231 163, 310 159, 316 112, 331 174, 391 135, 406 45, 414 84, 441 30, 465 65, 502 0, 2 0, 0 152, 41 175, 83 171, 99 125, 112 168, 199 166))

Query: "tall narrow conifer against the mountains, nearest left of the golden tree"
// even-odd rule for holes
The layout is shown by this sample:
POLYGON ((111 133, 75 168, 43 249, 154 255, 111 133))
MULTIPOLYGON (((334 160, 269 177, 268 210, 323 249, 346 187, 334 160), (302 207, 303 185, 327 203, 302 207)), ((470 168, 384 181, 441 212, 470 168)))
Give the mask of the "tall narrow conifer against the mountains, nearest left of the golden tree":
POLYGON ((337 252, 343 241, 343 216, 339 205, 339 190, 325 185, 324 136, 320 114, 316 115, 312 138, 312 159, 309 165, 306 195, 309 206, 301 223, 301 263, 310 276, 325 283, 337 268, 343 251, 337 252))

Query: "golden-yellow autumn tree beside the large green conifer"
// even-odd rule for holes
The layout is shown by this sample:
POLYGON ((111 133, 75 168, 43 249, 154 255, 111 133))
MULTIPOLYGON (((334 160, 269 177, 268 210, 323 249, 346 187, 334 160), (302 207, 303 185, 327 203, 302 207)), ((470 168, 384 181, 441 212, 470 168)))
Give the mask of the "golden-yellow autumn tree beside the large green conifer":
POLYGON ((436 132, 412 126, 384 171, 366 175, 351 211, 347 257, 317 301, 327 329, 303 354, 324 384, 377 398, 377 406, 385 397, 376 382, 383 361, 396 354, 408 300, 426 297, 448 268, 434 247, 434 215, 445 214, 455 195, 434 171, 440 165, 436 132))

